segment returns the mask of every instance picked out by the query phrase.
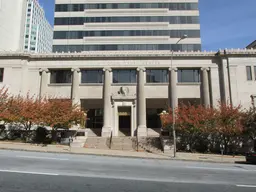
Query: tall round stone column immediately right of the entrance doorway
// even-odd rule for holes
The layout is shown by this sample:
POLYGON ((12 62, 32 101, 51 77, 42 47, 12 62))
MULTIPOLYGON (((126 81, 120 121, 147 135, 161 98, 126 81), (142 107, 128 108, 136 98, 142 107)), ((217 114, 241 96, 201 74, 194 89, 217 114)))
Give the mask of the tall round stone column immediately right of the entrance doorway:
POLYGON ((145 68, 138 68, 137 80, 137 105, 138 105, 138 129, 137 135, 139 137, 147 136, 147 123, 146 123, 146 98, 145 98, 145 68))

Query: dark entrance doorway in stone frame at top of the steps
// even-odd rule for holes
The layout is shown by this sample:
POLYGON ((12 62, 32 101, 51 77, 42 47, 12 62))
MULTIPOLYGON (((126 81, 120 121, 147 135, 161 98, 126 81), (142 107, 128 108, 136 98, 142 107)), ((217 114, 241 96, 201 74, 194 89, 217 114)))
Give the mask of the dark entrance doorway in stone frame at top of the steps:
POLYGON ((118 107, 118 136, 131 136, 131 107, 118 107))

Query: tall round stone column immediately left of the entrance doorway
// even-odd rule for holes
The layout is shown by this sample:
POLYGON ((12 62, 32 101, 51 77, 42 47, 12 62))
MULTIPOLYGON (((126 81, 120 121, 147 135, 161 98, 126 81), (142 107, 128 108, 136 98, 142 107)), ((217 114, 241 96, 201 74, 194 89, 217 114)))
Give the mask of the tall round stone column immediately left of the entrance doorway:
POLYGON ((109 137, 111 133, 111 121, 112 121, 112 104, 111 104, 111 69, 104 68, 104 87, 103 87, 103 103, 104 103, 104 116, 103 127, 101 131, 102 137, 109 137))

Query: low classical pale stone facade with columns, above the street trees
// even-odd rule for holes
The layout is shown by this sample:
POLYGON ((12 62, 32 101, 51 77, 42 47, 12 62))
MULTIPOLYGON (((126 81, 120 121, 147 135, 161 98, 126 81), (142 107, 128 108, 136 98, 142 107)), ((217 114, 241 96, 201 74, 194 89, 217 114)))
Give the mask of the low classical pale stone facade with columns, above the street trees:
POLYGON ((249 108, 256 95, 256 51, 0 53, 0 86, 12 94, 70 98, 88 127, 147 136, 159 113, 179 103, 249 108), (172 63, 172 64, 171 64, 172 63))

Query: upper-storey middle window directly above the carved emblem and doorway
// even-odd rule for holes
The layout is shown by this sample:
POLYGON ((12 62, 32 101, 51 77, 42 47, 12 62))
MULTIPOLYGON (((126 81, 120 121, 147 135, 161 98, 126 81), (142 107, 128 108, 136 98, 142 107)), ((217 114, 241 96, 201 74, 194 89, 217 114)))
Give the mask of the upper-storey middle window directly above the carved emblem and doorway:
POLYGON ((114 69, 113 83, 136 83, 136 70, 114 69))

